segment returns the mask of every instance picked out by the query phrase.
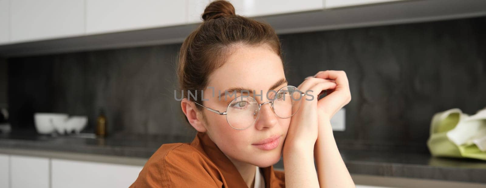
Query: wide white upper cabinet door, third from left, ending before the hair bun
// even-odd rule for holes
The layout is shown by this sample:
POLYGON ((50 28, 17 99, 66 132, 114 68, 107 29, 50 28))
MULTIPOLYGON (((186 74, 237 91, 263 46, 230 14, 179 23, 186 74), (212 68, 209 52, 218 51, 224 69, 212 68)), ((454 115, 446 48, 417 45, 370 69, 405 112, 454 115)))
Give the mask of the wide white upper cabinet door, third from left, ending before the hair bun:
POLYGON ((187 0, 86 0, 89 34, 187 23, 187 0))

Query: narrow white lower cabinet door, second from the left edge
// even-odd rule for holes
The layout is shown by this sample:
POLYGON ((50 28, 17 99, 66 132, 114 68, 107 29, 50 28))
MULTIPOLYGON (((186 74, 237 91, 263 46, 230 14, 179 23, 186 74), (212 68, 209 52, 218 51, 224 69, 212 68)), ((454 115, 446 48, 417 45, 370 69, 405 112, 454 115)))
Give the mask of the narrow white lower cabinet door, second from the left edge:
POLYGON ((11 188, 49 188, 49 158, 10 156, 11 188))

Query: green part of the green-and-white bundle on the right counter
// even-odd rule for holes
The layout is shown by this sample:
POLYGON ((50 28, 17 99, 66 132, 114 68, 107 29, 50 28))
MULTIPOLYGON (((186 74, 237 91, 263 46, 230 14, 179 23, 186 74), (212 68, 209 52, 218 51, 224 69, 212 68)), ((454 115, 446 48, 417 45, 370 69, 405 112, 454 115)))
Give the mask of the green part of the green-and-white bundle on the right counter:
MULTIPOLYGON (((460 110, 446 110, 434 115, 430 127, 430 137, 427 141, 429 151, 434 157, 467 157, 486 160, 486 152, 482 152, 476 144, 455 145, 447 137, 461 119, 460 110), (452 112, 451 112, 452 111, 452 112), (447 113, 450 113, 447 115, 447 113), (443 116, 447 115, 445 118, 443 116)), ((464 116, 463 116, 464 117, 464 116)))

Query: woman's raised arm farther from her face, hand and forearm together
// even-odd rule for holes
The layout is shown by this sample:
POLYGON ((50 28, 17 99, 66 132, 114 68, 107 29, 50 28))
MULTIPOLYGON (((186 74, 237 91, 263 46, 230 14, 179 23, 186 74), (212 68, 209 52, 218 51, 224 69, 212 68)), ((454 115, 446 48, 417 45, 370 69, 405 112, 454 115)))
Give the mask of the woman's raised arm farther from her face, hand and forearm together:
POLYGON ((319 187, 354 188, 354 182, 347 171, 334 140, 330 119, 351 101, 349 84, 344 71, 320 71, 315 79, 327 80, 336 84, 327 90, 327 95, 317 101, 318 139, 314 145, 314 161, 317 167, 319 187))

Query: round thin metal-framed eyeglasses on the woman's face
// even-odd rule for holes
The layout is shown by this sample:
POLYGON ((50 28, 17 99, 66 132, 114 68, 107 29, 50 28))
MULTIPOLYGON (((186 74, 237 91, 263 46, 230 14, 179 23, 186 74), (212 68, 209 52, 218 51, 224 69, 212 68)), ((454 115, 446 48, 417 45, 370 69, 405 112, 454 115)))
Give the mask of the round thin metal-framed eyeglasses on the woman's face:
POLYGON ((258 104, 251 96, 241 95, 233 99, 224 112, 205 107, 197 102, 194 103, 219 115, 226 115, 226 121, 231 127, 243 130, 257 121, 261 106, 267 103, 270 103, 273 112, 278 117, 292 117, 299 110, 301 98, 304 95, 305 93, 299 91, 295 86, 284 86, 277 92, 271 92, 271 95, 267 97, 272 100, 261 104, 258 104))

